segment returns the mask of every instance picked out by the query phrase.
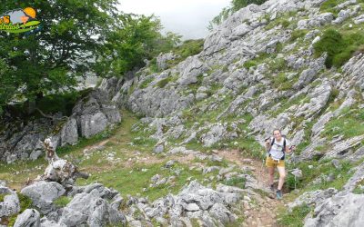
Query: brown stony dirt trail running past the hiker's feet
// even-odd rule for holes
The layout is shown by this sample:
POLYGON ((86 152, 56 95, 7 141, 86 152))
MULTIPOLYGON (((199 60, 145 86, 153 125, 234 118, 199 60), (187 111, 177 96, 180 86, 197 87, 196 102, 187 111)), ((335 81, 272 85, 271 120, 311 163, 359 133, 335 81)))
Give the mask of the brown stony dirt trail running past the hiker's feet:
MULTIPOLYGON (((258 180, 259 186, 268 187, 268 171, 263 162, 244 158, 238 150, 218 151, 217 155, 224 157, 230 162, 237 163, 239 166, 252 167, 253 176, 258 180)), ((257 206, 247 209, 248 212, 245 212, 247 219, 242 226, 279 226, 277 223, 278 208, 284 206, 284 202, 278 201, 273 193, 270 196, 273 199, 262 195, 262 200, 258 201, 257 206)))

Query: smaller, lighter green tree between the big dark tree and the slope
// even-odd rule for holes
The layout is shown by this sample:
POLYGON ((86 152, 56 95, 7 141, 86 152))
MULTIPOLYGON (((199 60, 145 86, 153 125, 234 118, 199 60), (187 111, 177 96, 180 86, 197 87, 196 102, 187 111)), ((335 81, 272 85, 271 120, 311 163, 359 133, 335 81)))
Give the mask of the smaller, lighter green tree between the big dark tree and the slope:
POLYGON ((162 25, 155 15, 123 15, 121 23, 106 36, 103 55, 98 59, 100 73, 123 75, 142 67, 152 59, 180 43, 180 35, 161 35, 162 25))

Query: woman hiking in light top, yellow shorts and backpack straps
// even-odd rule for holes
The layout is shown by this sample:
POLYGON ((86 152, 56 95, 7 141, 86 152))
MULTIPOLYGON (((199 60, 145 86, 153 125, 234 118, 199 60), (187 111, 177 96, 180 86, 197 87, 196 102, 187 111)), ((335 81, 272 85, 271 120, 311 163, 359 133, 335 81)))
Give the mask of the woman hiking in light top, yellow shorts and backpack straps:
POLYGON ((274 169, 277 166, 279 173, 279 182, 277 190, 277 199, 282 199, 282 186, 286 177, 285 170, 285 154, 291 153, 296 149, 296 146, 290 146, 290 142, 286 139, 279 129, 273 131, 273 137, 266 139, 267 158, 266 165, 269 173, 270 190, 274 191, 274 169))

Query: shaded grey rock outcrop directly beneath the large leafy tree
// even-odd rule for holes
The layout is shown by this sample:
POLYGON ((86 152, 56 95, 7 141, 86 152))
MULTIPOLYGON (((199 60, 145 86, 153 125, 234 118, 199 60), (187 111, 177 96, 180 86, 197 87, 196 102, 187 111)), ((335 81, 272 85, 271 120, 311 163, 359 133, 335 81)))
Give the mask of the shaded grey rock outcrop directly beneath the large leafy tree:
POLYGON ((79 138, 89 138, 121 121, 115 104, 105 92, 96 89, 79 100, 69 117, 59 114, 53 119, 40 118, 27 123, 6 123, 0 131, 0 159, 6 163, 16 160, 35 160, 45 153, 43 141, 51 136, 57 146, 74 145, 79 138))

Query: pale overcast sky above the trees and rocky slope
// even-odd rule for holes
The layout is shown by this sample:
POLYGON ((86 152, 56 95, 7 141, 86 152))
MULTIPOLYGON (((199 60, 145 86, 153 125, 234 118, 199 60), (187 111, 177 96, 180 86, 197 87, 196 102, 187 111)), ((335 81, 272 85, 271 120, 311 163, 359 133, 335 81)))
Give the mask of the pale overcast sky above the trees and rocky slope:
POLYGON ((119 9, 139 15, 160 17, 164 31, 183 35, 183 39, 205 38, 207 25, 230 0, 119 0, 119 9))

